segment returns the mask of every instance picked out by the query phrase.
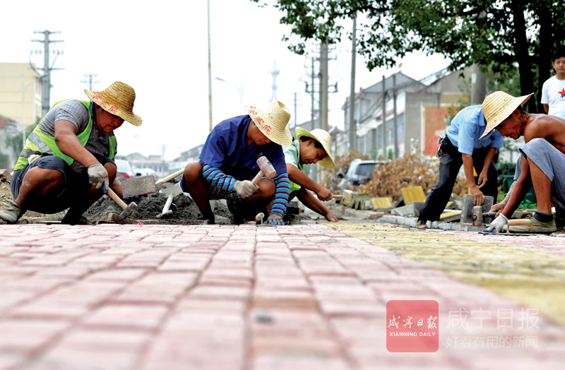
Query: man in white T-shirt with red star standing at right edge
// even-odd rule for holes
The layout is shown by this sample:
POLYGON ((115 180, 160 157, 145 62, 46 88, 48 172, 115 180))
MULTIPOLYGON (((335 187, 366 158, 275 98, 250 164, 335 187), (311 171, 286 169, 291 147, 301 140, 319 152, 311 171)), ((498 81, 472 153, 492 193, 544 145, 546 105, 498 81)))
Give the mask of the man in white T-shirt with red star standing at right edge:
POLYGON ((542 104, 545 113, 565 119, 565 48, 554 52, 552 66, 555 76, 543 84, 542 104))

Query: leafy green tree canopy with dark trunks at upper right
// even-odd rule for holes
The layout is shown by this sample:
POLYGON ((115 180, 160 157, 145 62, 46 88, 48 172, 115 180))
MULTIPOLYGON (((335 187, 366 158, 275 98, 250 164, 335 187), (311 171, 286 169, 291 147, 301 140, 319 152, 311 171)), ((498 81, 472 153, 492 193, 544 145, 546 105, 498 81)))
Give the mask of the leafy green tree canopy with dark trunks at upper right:
MULTIPOLYGON (((251 0, 258 2, 259 0, 251 0)), ((266 1, 266 0, 261 0, 266 1)), ((395 66, 408 52, 424 50, 451 59, 456 71, 478 64, 504 81, 518 66, 521 93, 549 78, 552 51, 562 44, 565 6, 558 0, 270 0, 300 41, 332 44, 345 35, 343 20, 358 15, 357 50, 367 68, 395 66), (362 20, 364 19, 364 20, 362 20), (559 33, 557 33, 559 32, 559 33), (540 73, 537 73, 538 67, 540 73), (534 76, 539 76, 536 81, 534 76)), ((535 112, 535 100, 528 109, 535 112)))

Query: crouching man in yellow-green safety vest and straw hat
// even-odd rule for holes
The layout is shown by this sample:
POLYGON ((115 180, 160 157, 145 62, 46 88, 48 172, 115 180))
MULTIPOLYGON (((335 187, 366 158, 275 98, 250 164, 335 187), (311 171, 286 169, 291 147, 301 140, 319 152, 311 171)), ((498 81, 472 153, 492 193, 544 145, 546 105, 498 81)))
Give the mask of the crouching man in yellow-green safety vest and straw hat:
POLYGON ((90 101, 54 105, 25 141, 11 181, 15 201, 0 212, 2 220, 13 224, 26 210, 50 214, 69 208, 62 223, 93 225, 83 213, 108 186, 121 196, 114 130, 124 121, 141 125, 133 114, 136 93, 121 82, 85 93, 90 101))

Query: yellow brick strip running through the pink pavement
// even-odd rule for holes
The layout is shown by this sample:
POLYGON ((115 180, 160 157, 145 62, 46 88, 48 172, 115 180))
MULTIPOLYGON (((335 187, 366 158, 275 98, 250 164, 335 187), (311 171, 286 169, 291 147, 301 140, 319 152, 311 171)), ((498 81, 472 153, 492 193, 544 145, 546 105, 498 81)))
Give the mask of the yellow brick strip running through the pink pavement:
POLYGON ((565 258, 396 225, 340 222, 340 232, 487 288, 565 323, 565 258))

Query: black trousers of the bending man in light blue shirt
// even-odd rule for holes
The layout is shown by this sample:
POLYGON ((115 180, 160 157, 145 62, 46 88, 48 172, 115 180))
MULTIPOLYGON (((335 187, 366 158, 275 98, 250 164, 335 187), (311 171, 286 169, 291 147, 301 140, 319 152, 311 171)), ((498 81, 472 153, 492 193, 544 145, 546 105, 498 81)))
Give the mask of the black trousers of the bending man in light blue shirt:
MULTIPOLYGON (((478 148, 472 151, 472 164, 477 174, 482 172, 484 157, 487 155, 489 148, 478 148)), ((424 208, 422 208, 420 217, 418 217, 419 221, 439 220, 439 216, 446 208, 453 191, 459 169, 463 165, 463 156, 458 152, 458 148, 449 141, 447 136, 444 138, 441 150, 443 153, 439 157, 439 179, 426 198, 424 208)), ((485 196, 493 196, 495 201, 498 195, 497 176, 496 167, 494 167, 494 163, 491 163, 487 173, 487 184, 480 189, 485 196)))

